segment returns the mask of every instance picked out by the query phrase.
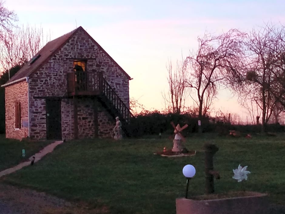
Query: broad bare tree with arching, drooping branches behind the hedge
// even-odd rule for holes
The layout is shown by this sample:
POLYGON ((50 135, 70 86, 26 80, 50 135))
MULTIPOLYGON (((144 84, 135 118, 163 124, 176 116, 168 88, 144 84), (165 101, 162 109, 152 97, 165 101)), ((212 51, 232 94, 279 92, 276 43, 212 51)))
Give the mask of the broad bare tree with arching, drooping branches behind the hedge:
POLYGON ((196 92, 199 118, 205 113, 203 105, 208 103, 204 109, 209 108, 220 85, 227 87, 240 82, 244 35, 236 29, 218 36, 205 33, 203 38, 198 37, 198 50, 186 58, 185 65, 189 71, 187 86, 196 92), (204 101, 205 96, 208 102, 204 101))

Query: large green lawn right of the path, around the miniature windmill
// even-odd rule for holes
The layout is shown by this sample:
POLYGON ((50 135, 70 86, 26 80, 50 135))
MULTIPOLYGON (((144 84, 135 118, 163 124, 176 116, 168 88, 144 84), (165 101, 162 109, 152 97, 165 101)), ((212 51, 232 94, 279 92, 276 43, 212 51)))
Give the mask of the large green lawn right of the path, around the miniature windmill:
POLYGON ((196 175, 189 196, 204 193, 204 142, 215 143, 216 193, 246 190, 268 192, 272 203, 285 204, 285 135, 253 136, 252 139, 203 135, 187 139, 186 147, 197 150, 191 157, 153 155, 169 139, 76 140, 65 142, 33 167, 5 177, 6 182, 28 186, 57 196, 82 200, 93 206, 105 204, 112 213, 163 213, 176 211, 175 199, 184 197, 183 166, 192 164, 196 175), (248 165, 248 180, 232 179, 233 169, 248 165))

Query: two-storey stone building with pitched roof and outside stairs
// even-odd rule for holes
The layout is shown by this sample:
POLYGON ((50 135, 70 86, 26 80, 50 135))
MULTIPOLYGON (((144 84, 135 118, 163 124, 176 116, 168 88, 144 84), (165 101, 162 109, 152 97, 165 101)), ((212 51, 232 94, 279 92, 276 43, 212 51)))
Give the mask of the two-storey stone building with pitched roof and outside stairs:
MULTIPOLYGON (((80 26, 48 42, 6 84, 6 138, 112 137, 124 127, 130 76, 80 26)), ((126 130, 125 130, 126 131, 126 130)))

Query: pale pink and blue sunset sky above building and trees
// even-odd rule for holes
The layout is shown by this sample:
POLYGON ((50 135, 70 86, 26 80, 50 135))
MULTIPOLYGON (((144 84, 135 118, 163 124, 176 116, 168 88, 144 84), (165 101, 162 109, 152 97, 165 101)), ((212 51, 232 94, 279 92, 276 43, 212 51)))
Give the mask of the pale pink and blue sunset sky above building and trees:
MULTIPOLYGON (((284 23, 285 1, 35 1, 6 0, 18 15, 18 24, 41 26, 57 38, 82 26, 133 78, 130 97, 148 109, 163 108, 167 90, 166 63, 197 48, 197 36, 207 30, 230 28, 248 32, 264 22, 284 23), (175 2, 175 3, 174 3, 175 2)), ((189 99, 188 104, 193 101, 189 99)), ((214 103, 216 110, 246 112, 226 90, 214 103)))

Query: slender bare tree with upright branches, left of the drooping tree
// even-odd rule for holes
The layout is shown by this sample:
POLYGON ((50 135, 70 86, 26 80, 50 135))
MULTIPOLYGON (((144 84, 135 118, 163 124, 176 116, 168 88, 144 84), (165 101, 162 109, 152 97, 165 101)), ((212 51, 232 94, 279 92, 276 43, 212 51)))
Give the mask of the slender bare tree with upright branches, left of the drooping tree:
POLYGON ((176 61, 173 69, 171 60, 166 65, 168 71, 168 92, 162 93, 166 112, 179 113, 184 110, 186 99, 186 68, 182 62, 176 61))

